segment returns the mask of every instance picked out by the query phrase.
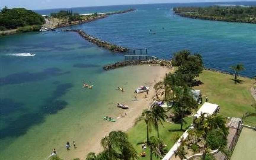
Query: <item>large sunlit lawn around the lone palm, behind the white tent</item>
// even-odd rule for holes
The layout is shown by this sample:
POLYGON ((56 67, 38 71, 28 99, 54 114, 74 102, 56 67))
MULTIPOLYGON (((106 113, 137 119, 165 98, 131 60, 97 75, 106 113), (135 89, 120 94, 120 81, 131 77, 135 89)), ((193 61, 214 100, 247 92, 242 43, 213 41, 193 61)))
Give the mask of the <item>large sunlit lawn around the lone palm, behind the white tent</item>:
POLYGON ((208 102, 220 105, 221 115, 241 118, 244 112, 255 112, 251 107, 255 100, 250 92, 253 80, 241 78, 243 82, 235 84, 232 78, 232 75, 204 70, 198 78, 204 84, 195 89, 201 90, 203 100, 207 96, 208 102))

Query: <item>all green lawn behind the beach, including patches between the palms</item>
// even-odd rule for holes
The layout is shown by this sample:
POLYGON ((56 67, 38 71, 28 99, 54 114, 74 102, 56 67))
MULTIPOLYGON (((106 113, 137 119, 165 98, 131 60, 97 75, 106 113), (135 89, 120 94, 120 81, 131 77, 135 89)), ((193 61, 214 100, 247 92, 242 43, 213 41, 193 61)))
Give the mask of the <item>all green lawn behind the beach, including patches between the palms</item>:
MULTIPOLYGON (((241 118, 244 112, 253 112, 251 104, 254 102, 250 93, 253 81, 248 78, 241 78, 241 84, 235 84, 232 80, 233 76, 223 74, 215 71, 204 70, 198 77, 204 84, 196 86, 194 89, 199 89, 203 95, 203 101, 205 97, 208 97, 208 102, 220 105, 220 114, 226 117, 238 117, 241 118)), ((248 117, 246 120, 251 123, 256 123, 256 118, 248 117)), ((187 119, 187 127, 192 123, 192 118, 187 119)), ((249 124, 248 124, 249 125, 249 124)), ((164 128, 159 128, 160 138, 164 140, 167 148, 170 149, 174 141, 175 134, 182 134, 182 131, 175 131, 180 128, 179 124, 164 123, 164 128), (169 130, 172 130, 170 132, 169 130)), ((138 123, 135 127, 127 131, 129 139, 134 144, 138 153, 142 152, 140 145, 136 145, 139 142, 146 141, 146 126, 144 122, 138 123)), ((152 129, 151 136, 156 136, 156 132, 152 129)), ((146 151, 146 158, 148 159, 149 151, 146 151)), ((154 158, 157 159, 157 158, 154 158)))

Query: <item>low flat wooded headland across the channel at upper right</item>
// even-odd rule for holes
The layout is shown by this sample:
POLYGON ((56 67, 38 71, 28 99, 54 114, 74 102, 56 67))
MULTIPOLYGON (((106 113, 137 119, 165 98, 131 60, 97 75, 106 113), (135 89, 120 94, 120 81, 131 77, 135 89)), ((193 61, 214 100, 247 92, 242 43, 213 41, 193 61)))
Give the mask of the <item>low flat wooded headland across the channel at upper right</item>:
POLYGON ((195 19, 256 23, 254 6, 177 7, 173 10, 175 14, 195 19))

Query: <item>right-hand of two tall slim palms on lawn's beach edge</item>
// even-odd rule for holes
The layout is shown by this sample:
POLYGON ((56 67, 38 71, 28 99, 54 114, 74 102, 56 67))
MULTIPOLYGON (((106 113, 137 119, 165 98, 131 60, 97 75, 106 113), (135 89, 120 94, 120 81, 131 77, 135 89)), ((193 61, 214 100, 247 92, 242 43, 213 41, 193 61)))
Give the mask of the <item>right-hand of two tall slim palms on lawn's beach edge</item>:
POLYGON ((159 123, 164 127, 163 122, 167 118, 166 111, 158 104, 154 104, 151 110, 151 118, 153 120, 153 126, 157 130, 157 137, 159 138, 159 123))

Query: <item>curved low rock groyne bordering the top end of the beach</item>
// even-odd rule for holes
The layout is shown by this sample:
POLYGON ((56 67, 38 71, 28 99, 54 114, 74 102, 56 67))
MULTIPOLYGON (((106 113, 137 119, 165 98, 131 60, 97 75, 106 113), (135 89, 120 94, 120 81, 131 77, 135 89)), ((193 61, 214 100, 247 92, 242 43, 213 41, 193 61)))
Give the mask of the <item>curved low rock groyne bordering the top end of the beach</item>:
POLYGON ((154 65, 159 65, 159 66, 167 66, 169 68, 172 68, 171 61, 166 61, 166 60, 131 60, 131 61, 121 61, 121 62, 116 62, 113 64, 109 64, 103 67, 105 71, 115 69, 115 68, 120 68, 124 66, 135 66, 135 65, 142 65, 142 64, 154 64, 154 65))

